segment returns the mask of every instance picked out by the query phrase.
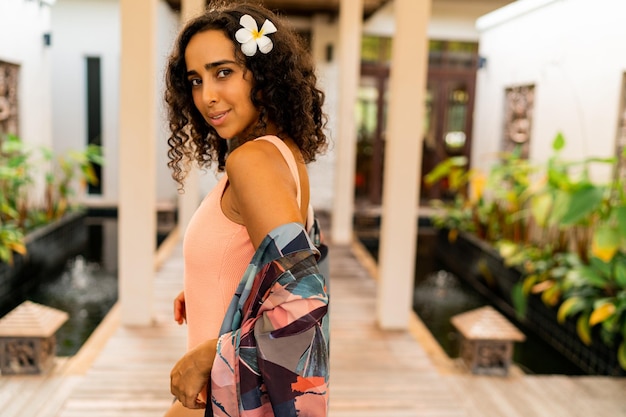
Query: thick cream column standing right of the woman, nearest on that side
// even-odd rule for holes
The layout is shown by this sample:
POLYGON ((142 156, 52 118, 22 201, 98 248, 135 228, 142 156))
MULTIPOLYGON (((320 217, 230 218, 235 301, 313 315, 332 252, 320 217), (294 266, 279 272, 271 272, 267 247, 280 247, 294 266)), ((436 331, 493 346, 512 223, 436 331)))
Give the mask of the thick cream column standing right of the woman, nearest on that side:
POLYGON ((377 317, 405 329, 412 308, 431 0, 394 0, 377 317))

